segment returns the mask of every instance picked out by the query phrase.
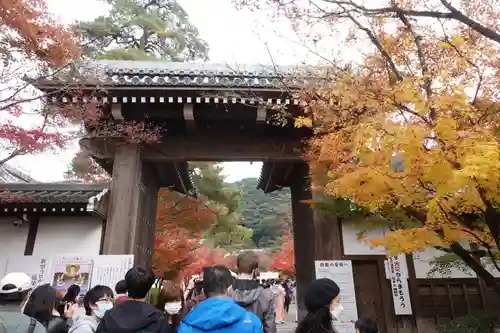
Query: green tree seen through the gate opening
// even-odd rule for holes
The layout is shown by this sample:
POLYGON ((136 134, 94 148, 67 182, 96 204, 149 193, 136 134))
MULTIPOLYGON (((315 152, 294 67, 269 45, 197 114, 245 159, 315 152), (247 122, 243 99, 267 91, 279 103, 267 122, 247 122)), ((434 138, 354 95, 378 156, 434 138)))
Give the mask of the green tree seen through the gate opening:
POLYGON ((253 245, 252 230, 242 225, 240 215, 240 190, 227 186, 217 163, 191 163, 191 176, 201 196, 207 198, 207 206, 215 215, 215 223, 206 232, 209 245, 216 248, 238 249, 253 245))

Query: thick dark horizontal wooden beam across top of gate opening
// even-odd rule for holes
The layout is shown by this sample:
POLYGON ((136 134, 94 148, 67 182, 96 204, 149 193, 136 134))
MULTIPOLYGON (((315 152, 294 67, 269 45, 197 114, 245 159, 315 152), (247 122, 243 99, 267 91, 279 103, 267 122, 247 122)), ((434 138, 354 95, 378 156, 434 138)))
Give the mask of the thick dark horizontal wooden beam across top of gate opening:
MULTIPOLYGON (((112 160, 126 144, 119 139, 83 138, 80 147, 98 159, 112 160)), ((209 135, 167 137, 154 146, 142 146, 144 161, 301 161, 300 138, 209 135)))

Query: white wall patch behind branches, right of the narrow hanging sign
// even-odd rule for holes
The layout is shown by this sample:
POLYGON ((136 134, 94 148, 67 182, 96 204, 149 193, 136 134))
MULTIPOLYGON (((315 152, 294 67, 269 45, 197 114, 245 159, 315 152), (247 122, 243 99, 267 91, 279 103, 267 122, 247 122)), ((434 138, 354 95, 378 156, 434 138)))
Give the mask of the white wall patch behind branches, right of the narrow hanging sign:
POLYGON ((444 255, 444 252, 438 251, 434 248, 429 248, 424 252, 413 253, 413 263, 415 265, 415 275, 417 279, 443 279, 443 278, 470 279, 476 277, 476 274, 470 269, 461 270, 455 267, 450 268, 447 274, 434 273, 433 275, 429 275, 429 272, 432 269, 432 264, 431 264, 432 259, 442 255, 444 255))

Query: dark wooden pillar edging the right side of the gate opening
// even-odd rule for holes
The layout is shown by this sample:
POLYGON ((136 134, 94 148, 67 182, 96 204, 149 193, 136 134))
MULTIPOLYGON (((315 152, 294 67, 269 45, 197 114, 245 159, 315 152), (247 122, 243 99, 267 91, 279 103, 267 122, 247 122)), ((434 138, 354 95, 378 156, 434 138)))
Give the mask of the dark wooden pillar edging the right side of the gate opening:
POLYGON ((299 320, 307 310, 304 299, 307 287, 314 280, 314 225, 313 212, 303 200, 311 200, 309 168, 300 163, 294 169, 295 182, 291 186, 292 221, 295 251, 295 274, 297 279, 297 311, 299 320))

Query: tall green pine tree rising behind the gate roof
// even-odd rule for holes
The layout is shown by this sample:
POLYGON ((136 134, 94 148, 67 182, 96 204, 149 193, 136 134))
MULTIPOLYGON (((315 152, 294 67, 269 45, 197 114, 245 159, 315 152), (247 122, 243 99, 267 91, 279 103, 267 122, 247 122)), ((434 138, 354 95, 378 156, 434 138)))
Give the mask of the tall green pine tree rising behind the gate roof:
POLYGON ((89 57, 169 61, 208 58, 208 44, 177 1, 102 1, 110 5, 107 15, 76 24, 89 57))

